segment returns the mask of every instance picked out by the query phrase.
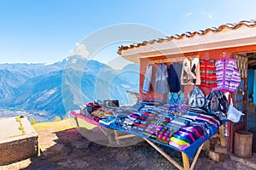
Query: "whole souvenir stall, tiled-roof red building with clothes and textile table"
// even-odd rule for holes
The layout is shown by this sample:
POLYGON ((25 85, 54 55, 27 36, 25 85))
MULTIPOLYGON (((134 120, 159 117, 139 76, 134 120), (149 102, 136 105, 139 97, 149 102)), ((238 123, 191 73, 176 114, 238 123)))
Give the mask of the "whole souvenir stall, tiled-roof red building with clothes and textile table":
POLYGON ((228 150, 233 132, 245 128, 247 56, 242 52, 256 51, 255 38, 256 21, 250 20, 121 46, 122 57, 140 64, 139 105, 124 109, 90 102, 71 114, 113 129, 117 143, 117 131, 142 137, 177 168, 193 169, 202 144, 219 127, 228 150), (230 101, 237 113, 245 113, 236 115, 242 117, 236 124, 227 122, 230 101), (154 143, 181 151, 183 167, 154 143))

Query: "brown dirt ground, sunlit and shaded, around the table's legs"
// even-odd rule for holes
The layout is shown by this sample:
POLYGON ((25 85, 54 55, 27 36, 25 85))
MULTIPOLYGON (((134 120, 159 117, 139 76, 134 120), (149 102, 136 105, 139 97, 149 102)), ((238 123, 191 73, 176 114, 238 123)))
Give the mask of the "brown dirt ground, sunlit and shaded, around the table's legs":
MULTIPOLYGON (((38 141, 42 150, 41 155, 2 166, 0 169, 177 169, 146 142, 125 147, 108 147, 84 138, 81 135, 81 130, 83 131, 84 128, 71 128, 57 132, 55 132, 55 129, 50 128, 38 129, 38 141)), ((99 129, 95 128, 95 130, 101 132, 99 129)), ((182 164, 180 152, 161 145, 159 146, 175 161, 182 164)), ((212 161, 207 158, 204 151, 201 151, 195 169, 250 170, 253 168, 247 167, 240 162, 232 161, 230 156, 221 162, 212 161)))

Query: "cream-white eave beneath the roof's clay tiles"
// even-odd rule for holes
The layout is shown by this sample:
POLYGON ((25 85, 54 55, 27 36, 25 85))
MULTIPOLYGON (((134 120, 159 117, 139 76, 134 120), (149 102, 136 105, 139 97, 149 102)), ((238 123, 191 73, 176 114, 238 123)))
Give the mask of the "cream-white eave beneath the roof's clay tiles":
POLYGON ((139 63, 140 58, 160 55, 184 54, 218 48, 235 48, 256 44, 256 26, 241 26, 239 29, 224 28, 220 32, 208 32, 205 35, 172 39, 172 41, 154 42, 145 46, 128 48, 121 51, 123 58, 139 63))

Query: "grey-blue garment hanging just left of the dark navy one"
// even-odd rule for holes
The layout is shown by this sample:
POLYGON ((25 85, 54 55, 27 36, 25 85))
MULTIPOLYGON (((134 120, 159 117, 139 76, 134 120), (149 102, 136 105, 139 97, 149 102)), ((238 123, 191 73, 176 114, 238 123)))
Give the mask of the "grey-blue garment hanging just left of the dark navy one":
POLYGON ((168 92, 168 82, 167 82, 167 65, 160 64, 157 66, 157 71, 155 74, 154 90, 158 94, 166 94, 168 92))

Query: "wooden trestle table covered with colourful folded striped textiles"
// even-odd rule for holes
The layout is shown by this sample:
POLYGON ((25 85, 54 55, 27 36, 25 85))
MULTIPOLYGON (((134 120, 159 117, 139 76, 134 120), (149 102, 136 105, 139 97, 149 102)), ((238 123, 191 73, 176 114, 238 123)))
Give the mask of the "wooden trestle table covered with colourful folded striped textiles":
MULTIPOLYGON (((132 106, 113 108, 90 102, 82 111, 70 113, 101 129, 102 127, 113 129, 117 144, 119 139, 133 135, 142 137, 178 169, 189 169, 189 158, 194 160, 190 166, 194 168, 202 144, 215 134, 224 122, 218 116, 208 115, 199 108, 188 105, 165 105, 162 101, 155 100, 141 102, 138 109, 132 106), (129 134, 120 138, 117 131, 129 134), (181 151, 183 167, 154 143, 181 151)), ((108 136, 106 133, 105 135, 108 136)))

